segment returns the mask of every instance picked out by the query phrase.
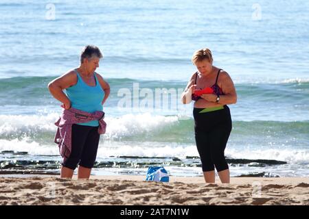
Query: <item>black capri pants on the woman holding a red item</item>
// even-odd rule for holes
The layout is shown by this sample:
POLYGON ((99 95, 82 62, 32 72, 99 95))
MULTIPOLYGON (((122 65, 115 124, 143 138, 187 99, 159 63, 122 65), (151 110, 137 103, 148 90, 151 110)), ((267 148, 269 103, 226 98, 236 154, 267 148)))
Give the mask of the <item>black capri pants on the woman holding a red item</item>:
POLYGON ((218 172, 227 170, 229 166, 225 160, 225 147, 232 123, 229 107, 222 110, 199 113, 201 108, 194 108, 194 131, 198 153, 201 157, 203 172, 218 172))

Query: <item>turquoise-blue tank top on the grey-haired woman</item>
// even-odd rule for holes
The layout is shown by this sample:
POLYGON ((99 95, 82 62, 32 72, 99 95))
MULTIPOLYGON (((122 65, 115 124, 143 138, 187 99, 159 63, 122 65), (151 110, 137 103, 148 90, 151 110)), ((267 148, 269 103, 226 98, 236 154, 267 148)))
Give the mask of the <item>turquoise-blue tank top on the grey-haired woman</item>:
MULTIPOLYGON (((80 77, 80 73, 77 70, 74 70, 78 77, 78 81, 76 85, 71 86, 65 89, 69 100, 71 101, 71 107, 74 107, 78 110, 82 110, 85 112, 93 113, 95 111, 102 111, 102 101, 104 91, 100 86, 100 83, 95 76, 95 86, 89 86, 82 80, 80 77)), ((98 120, 93 120, 88 123, 78 123, 78 125, 87 125, 92 127, 98 127, 98 120)))

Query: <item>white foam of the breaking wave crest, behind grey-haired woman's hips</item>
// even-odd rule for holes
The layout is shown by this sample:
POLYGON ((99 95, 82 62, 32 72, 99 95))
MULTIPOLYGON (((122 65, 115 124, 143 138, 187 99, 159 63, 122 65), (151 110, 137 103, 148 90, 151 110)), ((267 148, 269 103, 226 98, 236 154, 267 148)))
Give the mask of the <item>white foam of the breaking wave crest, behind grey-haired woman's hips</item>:
MULTIPOLYGON (((38 132, 56 131, 55 121, 59 114, 47 115, 0 115, 1 136, 29 136, 38 132)), ((152 116, 152 114, 126 114, 105 118, 107 123, 104 139, 119 139, 140 133, 158 131, 175 124, 178 116, 152 116)))

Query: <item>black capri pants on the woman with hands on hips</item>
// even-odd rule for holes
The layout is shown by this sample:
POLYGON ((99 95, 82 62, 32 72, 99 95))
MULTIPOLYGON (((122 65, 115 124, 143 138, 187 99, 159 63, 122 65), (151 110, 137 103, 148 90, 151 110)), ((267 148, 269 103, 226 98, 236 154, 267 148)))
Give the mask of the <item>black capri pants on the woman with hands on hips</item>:
POLYGON ((100 140, 98 127, 73 124, 71 140, 71 154, 62 162, 62 166, 72 170, 78 164, 85 168, 93 168, 100 140))

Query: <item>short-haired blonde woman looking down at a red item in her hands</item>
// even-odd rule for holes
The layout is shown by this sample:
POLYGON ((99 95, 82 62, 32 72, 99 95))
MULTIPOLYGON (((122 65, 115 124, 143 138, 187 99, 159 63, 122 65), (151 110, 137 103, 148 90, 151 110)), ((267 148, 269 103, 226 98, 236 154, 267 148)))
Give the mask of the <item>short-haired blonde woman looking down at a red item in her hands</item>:
POLYGON ((194 53, 192 62, 198 71, 192 75, 182 95, 184 104, 194 102, 194 134, 206 183, 215 182, 215 169, 222 183, 229 183, 225 147, 231 133, 229 107, 237 94, 231 77, 212 65, 209 49, 194 53))

